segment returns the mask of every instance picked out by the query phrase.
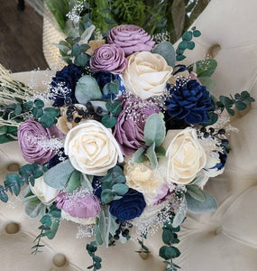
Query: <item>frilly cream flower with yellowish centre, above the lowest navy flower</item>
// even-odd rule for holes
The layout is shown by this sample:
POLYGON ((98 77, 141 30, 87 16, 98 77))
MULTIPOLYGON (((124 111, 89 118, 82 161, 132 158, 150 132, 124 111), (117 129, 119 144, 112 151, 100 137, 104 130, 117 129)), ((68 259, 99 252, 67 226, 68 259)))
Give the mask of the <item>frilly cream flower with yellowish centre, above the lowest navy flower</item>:
POLYGON ((157 197, 164 183, 161 174, 157 170, 153 171, 149 162, 133 164, 131 159, 127 159, 124 164, 124 176, 126 184, 142 192, 146 201, 148 197, 157 197))

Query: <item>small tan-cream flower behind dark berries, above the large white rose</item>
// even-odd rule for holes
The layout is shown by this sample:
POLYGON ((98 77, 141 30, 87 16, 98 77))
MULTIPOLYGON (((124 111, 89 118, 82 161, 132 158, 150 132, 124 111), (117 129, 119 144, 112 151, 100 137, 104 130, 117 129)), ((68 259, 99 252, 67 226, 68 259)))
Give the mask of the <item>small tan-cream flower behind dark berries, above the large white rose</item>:
MULTIPOLYGON (((83 106, 83 105, 74 105, 75 107, 77 107, 78 109, 83 109, 84 111, 87 109, 87 107, 83 106)), ((67 108, 68 107, 61 107, 60 108, 60 117, 58 118, 58 122, 56 124, 56 126, 58 127, 58 129, 64 134, 66 135, 70 129, 72 129, 75 126, 78 126, 78 123, 76 123, 74 120, 73 121, 68 121, 67 119, 67 108)), ((76 117, 82 118, 82 116, 78 115, 78 112, 74 112, 73 113, 73 119, 75 119, 76 117)))

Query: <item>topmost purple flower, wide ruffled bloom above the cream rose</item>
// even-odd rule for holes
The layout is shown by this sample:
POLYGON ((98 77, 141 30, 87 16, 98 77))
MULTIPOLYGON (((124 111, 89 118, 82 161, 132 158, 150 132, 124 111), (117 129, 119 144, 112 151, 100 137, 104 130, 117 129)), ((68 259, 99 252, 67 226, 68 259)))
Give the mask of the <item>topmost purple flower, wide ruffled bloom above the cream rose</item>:
POLYGON ((125 56, 135 51, 151 51, 154 42, 151 36, 140 26, 123 24, 112 28, 108 34, 108 42, 123 48, 125 56))

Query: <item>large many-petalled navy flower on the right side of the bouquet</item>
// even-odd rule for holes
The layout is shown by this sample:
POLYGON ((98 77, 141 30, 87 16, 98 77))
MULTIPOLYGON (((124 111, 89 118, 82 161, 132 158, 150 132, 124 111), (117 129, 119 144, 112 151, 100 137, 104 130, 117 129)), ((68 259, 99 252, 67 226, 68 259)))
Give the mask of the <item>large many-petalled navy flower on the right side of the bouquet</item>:
POLYGON ((170 117, 183 119, 186 123, 197 125, 209 121, 208 111, 214 109, 214 102, 205 86, 197 80, 177 79, 170 88, 171 97, 165 101, 170 117))

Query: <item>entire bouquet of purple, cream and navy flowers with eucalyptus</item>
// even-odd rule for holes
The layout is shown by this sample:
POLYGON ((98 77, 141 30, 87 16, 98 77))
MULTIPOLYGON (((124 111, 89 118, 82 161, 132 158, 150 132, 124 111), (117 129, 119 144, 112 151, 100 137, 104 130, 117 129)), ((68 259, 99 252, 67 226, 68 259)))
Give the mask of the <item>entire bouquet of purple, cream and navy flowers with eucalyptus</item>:
POLYGON ((176 50, 162 35, 118 25, 103 39, 87 16, 76 17, 56 44, 68 62, 37 93, 1 67, 0 143, 18 140, 29 163, 6 176, 0 200, 23 189, 26 213, 40 217, 42 237, 54 238, 62 219, 87 225, 94 270, 97 246, 163 230, 160 257, 177 270, 177 232, 187 211, 216 210, 203 191, 224 172, 234 109, 254 99, 247 91, 215 98, 216 61, 181 64, 201 33, 182 35, 176 50))

